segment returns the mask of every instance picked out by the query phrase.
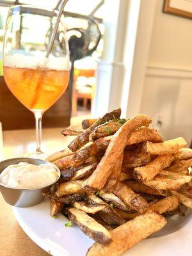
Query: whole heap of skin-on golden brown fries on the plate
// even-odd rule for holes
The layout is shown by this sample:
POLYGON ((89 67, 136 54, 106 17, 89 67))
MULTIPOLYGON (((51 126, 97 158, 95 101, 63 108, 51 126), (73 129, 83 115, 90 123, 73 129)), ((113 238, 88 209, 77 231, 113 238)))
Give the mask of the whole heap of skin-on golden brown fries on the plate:
POLYGON ((95 240, 88 256, 118 256, 166 225, 165 216, 192 209, 192 150, 184 138, 164 141, 152 119, 120 118, 115 109, 84 120, 67 148, 47 158, 61 179, 46 194, 59 212, 95 240))

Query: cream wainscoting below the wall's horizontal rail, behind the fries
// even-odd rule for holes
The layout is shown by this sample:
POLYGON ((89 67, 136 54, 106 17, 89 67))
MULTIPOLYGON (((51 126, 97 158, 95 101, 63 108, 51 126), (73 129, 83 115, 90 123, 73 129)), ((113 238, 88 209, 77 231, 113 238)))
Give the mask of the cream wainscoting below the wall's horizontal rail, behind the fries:
POLYGON ((147 67, 141 113, 150 115, 166 140, 192 141, 192 70, 147 67))

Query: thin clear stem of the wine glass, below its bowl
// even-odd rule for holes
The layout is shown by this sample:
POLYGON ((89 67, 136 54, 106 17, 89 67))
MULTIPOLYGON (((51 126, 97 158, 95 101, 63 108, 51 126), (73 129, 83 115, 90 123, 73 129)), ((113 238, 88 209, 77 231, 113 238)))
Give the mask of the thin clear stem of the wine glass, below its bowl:
POLYGON ((36 128, 36 153, 42 153, 42 111, 35 111, 35 128, 36 128))

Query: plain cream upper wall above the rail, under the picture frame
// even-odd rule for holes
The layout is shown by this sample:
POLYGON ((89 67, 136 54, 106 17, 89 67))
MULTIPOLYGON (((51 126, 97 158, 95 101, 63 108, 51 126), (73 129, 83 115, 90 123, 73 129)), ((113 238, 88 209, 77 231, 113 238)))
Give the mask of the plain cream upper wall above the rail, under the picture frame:
POLYGON ((192 20, 163 13, 156 1, 148 66, 192 69, 192 20))

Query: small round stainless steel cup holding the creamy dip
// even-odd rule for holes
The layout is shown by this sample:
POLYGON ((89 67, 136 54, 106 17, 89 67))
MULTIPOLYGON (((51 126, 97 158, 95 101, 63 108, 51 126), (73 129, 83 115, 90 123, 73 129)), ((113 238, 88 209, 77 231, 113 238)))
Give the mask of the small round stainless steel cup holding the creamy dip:
MULTIPOLYGON (((35 158, 28 158, 28 157, 19 157, 19 158, 12 158, 7 159, 2 162, 0 162, 0 173, 3 172, 3 170, 8 167, 10 164, 18 164, 20 162, 27 162, 29 164, 49 164, 51 165, 56 172, 58 172, 58 179, 60 179, 60 170, 59 168, 47 161, 44 161, 42 159, 35 159, 35 158)), ((32 188, 32 189, 20 189, 20 188, 12 188, 9 187, 3 183, 0 182, 0 191, 3 195, 4 200, 13 206, 16 207, 29 207, 36 204, 39 204, 43 198, 42 193, 47 193, 49 189, 51 188, 52 184, 56 183, 57 180, 54 180, 51 184, 48 186, 42 187, 42 188, 32 188)))

